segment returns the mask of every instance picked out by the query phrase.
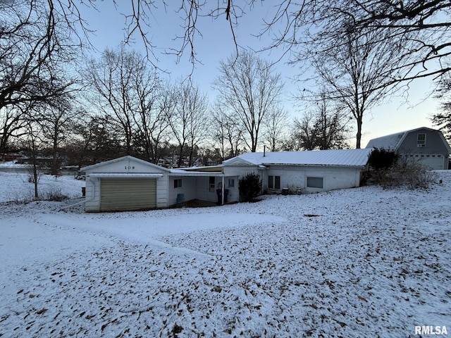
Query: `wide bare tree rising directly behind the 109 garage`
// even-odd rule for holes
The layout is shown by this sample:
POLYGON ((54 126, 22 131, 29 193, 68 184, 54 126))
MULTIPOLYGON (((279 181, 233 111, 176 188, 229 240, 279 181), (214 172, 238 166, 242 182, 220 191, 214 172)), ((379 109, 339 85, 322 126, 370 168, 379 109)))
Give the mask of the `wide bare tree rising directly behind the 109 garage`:
POLYGON ((121 130, 127 154, 136 150, 134 142, 141 134, 147 158, 153 157, 152 132, 162 116, 154 115, 160 80, 147 61, 120 46, 104 51, 99 61, 90 61, 87 78, 97 94, 91 101, 121 130))

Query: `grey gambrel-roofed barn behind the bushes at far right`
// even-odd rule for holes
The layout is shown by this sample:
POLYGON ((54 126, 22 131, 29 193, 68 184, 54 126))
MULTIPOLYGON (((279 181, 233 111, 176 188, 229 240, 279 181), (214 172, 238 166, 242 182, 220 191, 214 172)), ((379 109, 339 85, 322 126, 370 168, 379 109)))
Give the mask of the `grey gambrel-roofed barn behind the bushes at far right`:
POLYGON ((366 148, 396 151, 406 161, 431 170, 447 169, 451 154, 443 133, 427 127, 371 139, 366 148))

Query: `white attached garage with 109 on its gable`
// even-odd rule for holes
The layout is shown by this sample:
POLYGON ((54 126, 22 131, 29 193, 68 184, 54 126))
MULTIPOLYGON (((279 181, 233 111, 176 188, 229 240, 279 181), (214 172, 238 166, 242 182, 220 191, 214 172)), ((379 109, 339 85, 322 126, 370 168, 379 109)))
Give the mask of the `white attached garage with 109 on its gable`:
POLYGON ((86 173, 85 211, 135 211, 168 206, 168 172, 125 156, 81 169, 86 173))

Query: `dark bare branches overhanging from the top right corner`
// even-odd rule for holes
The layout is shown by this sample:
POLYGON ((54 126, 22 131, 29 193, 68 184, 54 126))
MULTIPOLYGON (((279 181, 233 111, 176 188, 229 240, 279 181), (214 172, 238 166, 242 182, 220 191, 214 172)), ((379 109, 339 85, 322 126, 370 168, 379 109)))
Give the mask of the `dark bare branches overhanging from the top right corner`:
POLYGON ((450 71, 443 63, 451 53, 450 10, 449 2, 439 0, 278 1, 261 35, 273 37, 268 48, 283 47, 297 60, 347 44, 349 32, 356 33, 352 39, 371 32, 379 37, 377 43, 399 42, 395 49, 399 62, 383 72, 387 78, 397 76, 380 84, 391 86, 450 71))

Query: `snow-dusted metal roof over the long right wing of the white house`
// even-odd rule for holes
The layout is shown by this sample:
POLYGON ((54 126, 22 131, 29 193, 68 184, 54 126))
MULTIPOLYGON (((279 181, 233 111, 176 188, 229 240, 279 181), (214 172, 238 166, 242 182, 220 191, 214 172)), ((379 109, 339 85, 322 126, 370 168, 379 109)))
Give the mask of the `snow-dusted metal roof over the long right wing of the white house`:
MULTIPOLYGON (((330 165, 364 166, 372 149, 336 149, 314 151, 275 151, 247 153, 237 156, 253 165, 330 165)), ((223 165, 237 163, 237 158, 224 161, 223 165)))

